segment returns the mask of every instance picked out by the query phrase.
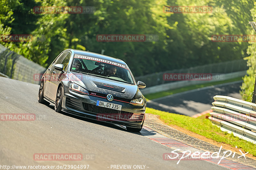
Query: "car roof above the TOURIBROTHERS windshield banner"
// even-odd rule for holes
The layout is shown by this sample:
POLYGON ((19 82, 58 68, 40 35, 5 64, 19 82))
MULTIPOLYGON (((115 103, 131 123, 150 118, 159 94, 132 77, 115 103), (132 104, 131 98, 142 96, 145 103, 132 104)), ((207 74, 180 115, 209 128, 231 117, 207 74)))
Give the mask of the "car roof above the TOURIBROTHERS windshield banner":
POLYGON ((97 53, 93 53, 93 52, 89 52, 89 51, 83 51, 83 50, 78 50, 78 49, 71 49, 71 48, 68 48, 66 50, 73 51, 75 54, 79 54, 79 55, 96 57, 96 58, 100 58, 100 59, 104 59, 104 60, 109 60, 109 61, 112 61, 112 62, 116 62, 116 63, 127 65, 126 63, 124 63, 123 60, 120 60, 120 59, 117 59, 117 58, 114 58, 114 57, 110 57, 110 56, 107 56, 107 55, 97 54, 97 53))

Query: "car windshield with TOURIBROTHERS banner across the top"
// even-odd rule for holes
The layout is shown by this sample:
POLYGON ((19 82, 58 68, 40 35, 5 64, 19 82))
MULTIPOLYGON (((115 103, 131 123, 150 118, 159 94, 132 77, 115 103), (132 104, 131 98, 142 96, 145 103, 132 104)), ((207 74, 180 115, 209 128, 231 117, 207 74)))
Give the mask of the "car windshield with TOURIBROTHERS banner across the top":
POLYGON ((112 80, 134 84, 129 68, 120 63, 75 54, 71 71, 88 73, 112 80))

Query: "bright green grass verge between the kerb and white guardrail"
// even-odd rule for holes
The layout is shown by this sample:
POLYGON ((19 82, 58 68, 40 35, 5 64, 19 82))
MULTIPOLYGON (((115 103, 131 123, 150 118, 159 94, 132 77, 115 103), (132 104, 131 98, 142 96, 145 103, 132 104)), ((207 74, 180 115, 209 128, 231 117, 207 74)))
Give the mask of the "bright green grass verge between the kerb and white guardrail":
POLYGON ((202 116, 192 118, 189 116, 163 112, 152 108, 147 108, 146 113, 160 115, 160 119, 168 125, 176 125, 217 142, 230 144, 234 147, 237 146, 238 148, 242 148, 245 152, 249 152, 253 156, 256 156, 255 144, 235 137, 233 134, 222 132, 219 127, 213 125, 209 119, 203 119, 202 116))

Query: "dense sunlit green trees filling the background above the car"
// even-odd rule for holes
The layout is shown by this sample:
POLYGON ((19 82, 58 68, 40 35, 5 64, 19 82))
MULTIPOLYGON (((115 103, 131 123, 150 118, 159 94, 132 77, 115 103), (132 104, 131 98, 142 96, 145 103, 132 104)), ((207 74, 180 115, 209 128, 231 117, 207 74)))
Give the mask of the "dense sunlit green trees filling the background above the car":
MULTIPOLYGON (((247 42, 213 42, 215 34, 251 33, 253 0, 1 0, 0 34, 32 34, 2 42, 47 66, 66 48, 124 60, 135 76, 247 57, 247 42), (211 13, 165 13, 167 6, 212 6, 211 13), (92 14, 37 14, 35 6, 93 6, 92 14), (153 42, 98 42, 98 34, 156 34, 153 42)), ((249 52, 250 53, 250 52, 249 52)))

